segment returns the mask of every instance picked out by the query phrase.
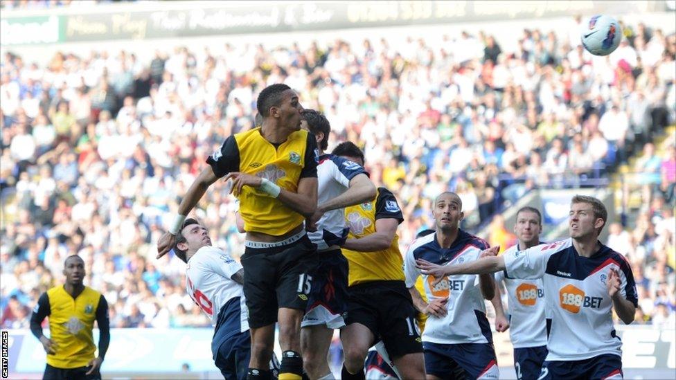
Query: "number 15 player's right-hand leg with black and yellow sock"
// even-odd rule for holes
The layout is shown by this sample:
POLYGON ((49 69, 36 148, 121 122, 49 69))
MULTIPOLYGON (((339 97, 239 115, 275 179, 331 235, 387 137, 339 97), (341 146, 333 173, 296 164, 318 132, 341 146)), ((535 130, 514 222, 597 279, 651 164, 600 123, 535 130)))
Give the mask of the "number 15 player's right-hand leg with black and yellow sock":
POLYGON ((300 380, 303 374, 301 356, 301 320, 303 310, 282 307, 277 313, 279 323, 279 346, 282 360, 279 380, 300 380))

